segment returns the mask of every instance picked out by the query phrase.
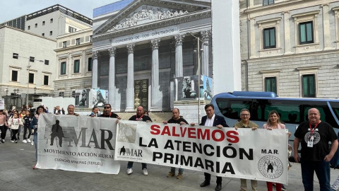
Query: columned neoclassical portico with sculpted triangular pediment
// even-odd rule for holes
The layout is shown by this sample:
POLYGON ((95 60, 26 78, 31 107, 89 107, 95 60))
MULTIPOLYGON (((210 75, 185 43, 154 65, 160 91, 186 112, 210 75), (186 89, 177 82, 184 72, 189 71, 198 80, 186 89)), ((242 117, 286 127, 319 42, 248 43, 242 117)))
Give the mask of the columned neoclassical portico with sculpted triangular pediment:
POLYGON ((213 75, 208 1, 133 1, 93 26, 92 88, 108 89, 117 111, 169 110, 175 79, 213 75))

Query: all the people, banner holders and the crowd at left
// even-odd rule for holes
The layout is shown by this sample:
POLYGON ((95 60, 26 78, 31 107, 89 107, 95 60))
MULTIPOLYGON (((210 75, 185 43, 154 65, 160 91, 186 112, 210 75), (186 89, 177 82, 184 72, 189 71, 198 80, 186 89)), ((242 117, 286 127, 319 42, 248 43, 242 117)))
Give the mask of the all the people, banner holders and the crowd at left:
MULTIPOLYGON (((62 115, 63 109, 60 110, 59 106, 57 106, 53 113, 56 115, 62 115)), ((117 122, 121 120, 121 117, 116 113, 112 112, 112 107, 109 103, 105 104, 104 111, 100 115, 98 113, 99 109, 94 107, 90 116, 92 117, 112 117, 117 118, 117 122)), ((206 116, 201 118, 201 123, 199 125, 208 126, 208 127, 229 127, 224 119, 224 117, 220 117, 215 115, 214 113, 214 105, 208 104, 205 105, 206 116)), ((37 149, 37 123, 39 119, 39 115, 46 112, 45 108, 40 105, 35 110, 35 115, 30 115, 30 110, 23 110, 22 112, 18 112, 13 110, 13 112, 7 116, 6 112, 0 110, 0 130, 1 130, 1 143, 4 144, 4 139, 6 137, 6 127, 11 129, 11 141, 18 142, 17 134, 20 134, 20 126, 24 127, 23 134, 23 142, 30 142, 30 134, 32 129, 34 130, 34 143, 35 149, 37 149), (28 137, 26 134, 28 132, 28 137)), ((76 115, 74 112, 74 105, 69 105, 67 107, 67 115, 76 115)), ((249 119, 251 114, 249 110, 246 108, 242 109, 240 112, 240 120, 237 121, 233 127, 235 129, 239 128, 251 128, 252 130, 258 129, 258 125, 256 123, 251 122, 249 119)), ((274 129, 285 129, 285 125, 280 122, 279 114, 277 111, 272 110, 268 114, 268 121, 265 125, 263 125, 263 129, 274 130, 274 129)), ((323 190, 331 190, 330 185, 330 163, 331 158, 335 154, 335 151, 338 149, 338 137, 335 134, 333 127, 329 125, 327 122, 321 122, 320 120, 320 112, 316 108, 311 108, 308 111, 308 119, 307 122, 302 122, 295 132, 295 141, 294 141, 294 158, 296 162, 301 163, 302 168, 302 183, 304 184, 304 189, 309 191, 313 190, 313 180, 314 180, 314 172, 316 173, 321 191, 323 190), (331 148, 329 145, 331 142, 331 148), (298 149, 299 144, 301 144, 301 157, 299 157, 298 149)), ((148 113, 145 113, 142 106, 138 106, 136 110, 136 115, 133 115, 129 118, 129 120, 133 121, 143 121, 143 122, 152 122, 148 113)), ((189 123, 184 120, 182 116, 180 116, 180 111, 178 108, 174 108, 172 110, 172 118, 165 121, 167 123, 174 123, 180 125, 189 125, 189 123)), ((190 125, 194 126, 194 123, 190 125)), ((290 134, 289 134, 290 136, 290 134)), ((35 158, 37 160, 37 152, 35 154, 35 158)), ((142 163, 142 172, 143 175, 148 175, 147 164, 142 163)), ((129 161, 127 164, 127 174, 133 173, 132 170, 133 162, 129 161)), ((33 169, 36 169, 35 166, 33 169)), ((179 168, 179 173, 177 174, 177 179, 182 179, 184 173, 183 168, 179 168)), ((167 175, 168 178, 172 178, 176 175, 175 168, 170 168, 170 171, 167 175)), ((206 187, 210 185, 210 177, 209 173, 204 173, 205 180, 201 183, 201 187, 206 187)), ((222 189, 222 177, 217 176, 217 186, 215 190, 222 189)), ((268 191, 273 190, 273 185, 275 184, 276 190, 285 190, 284 185, 280 183, 271 183, 267 182, 268 191)), ((241 191, 247 190, 246 179, 240 180, 240 189, 241 191)), ((251 190, 257 190, 257 181, 251 180, 251 190)))

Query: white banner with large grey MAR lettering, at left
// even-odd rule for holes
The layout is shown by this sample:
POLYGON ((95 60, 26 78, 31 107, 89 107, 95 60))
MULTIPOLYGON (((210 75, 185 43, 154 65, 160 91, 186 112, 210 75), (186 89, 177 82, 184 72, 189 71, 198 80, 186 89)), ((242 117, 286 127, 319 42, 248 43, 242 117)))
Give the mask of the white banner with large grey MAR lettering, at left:
POLYGON ((40 115, 36 167, 119 173, 120 163, 114 161, 116 120, 75 115, 40 115))

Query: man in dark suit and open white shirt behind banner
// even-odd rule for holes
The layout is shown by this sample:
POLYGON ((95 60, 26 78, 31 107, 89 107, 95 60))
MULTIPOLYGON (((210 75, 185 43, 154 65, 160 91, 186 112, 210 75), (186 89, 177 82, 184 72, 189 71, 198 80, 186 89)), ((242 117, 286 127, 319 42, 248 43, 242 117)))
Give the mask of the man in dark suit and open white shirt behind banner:
MULTIPOLYGON (((221 129, 222 127, 228 127, 224 117, 218 116, 214 114, 214 105, 207 104, 205 105, 206 115, 201 118, 201 124, 203 126, 209 127, 218 127, 221 129)), ((195 125, 193 122, 191 125, 195 125)), ((210 173, 203 173, 205 175, 205 181, 201 183, 200 187, 206 187, 210 185, 210 173)), ((221 190, 222 187, 222 177, 217 176, 217 186, 215 187, 215 191, 221 190)))

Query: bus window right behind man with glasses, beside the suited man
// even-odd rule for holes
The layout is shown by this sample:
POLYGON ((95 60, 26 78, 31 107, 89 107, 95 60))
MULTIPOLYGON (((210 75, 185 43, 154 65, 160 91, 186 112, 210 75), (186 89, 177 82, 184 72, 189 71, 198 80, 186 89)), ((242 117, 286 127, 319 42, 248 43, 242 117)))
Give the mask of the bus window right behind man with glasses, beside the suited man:
POLYGON ((228 108, 228 116, 233 120, 240 119, 240 111, 244 108, 250 110, 251 107, 251 100, 248 99, 237 99, 237 100, 230 100, 230 108, 228 108))

